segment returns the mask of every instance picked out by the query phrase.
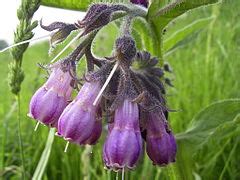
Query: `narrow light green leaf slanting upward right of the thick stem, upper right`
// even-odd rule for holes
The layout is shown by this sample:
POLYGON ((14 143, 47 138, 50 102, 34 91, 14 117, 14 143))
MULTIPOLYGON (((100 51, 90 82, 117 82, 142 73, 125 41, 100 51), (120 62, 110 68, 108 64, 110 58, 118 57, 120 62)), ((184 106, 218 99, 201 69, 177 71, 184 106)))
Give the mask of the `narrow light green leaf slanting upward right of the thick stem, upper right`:
POLYGON ((163 51, 167 52, 173 47, 176 47, 179 42, 189 37, 192 33, 205 28, 212 20, 213 17, 198 19, 188 26, 179 29, 163 42, 163 51))

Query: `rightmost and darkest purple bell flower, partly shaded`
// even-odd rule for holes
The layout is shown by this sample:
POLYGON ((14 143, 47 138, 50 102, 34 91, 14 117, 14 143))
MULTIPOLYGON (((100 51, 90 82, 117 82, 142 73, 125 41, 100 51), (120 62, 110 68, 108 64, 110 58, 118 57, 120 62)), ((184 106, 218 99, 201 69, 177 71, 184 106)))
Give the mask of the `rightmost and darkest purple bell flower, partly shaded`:
POLYGON ((163 113, 150 112, 147 120, 147 154, 153 164, 175 162, 177 145, 163 113))

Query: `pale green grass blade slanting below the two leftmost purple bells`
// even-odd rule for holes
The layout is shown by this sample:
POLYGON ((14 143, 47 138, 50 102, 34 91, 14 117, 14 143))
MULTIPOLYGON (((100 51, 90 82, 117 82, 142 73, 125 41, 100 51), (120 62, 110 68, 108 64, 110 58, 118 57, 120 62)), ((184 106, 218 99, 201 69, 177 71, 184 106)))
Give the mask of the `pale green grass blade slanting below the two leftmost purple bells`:
POLYGON ((47 166, 48 159, 49 159, 49 156, 50 156, 50 153, 51 153, 52 143, 53 143, 53 140, 54 140, 54 135, 55 135, 55 129, 52 128, 49 131, 48 139, 47 139, 45 148, 43 150, 43 153, 42 153, 41 158, 38 162, 37 168, 36 168, 36 170, 33 174, 32 179, 42 179, 44 170, 47 166))

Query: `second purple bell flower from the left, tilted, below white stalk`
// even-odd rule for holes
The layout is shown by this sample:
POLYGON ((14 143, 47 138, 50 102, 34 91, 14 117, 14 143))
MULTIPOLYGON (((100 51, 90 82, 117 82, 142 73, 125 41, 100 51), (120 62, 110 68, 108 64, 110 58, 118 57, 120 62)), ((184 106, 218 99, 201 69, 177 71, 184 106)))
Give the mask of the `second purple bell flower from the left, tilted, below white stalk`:
POLYGON ((63 111, 58 122, 58 135, 80 145, 95 144, 102 132, 101 109, 93 102, 100 83, 86 82, 77 97, 63 111))

